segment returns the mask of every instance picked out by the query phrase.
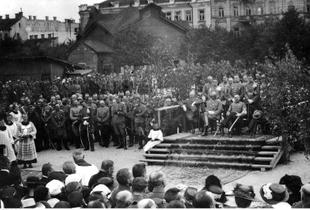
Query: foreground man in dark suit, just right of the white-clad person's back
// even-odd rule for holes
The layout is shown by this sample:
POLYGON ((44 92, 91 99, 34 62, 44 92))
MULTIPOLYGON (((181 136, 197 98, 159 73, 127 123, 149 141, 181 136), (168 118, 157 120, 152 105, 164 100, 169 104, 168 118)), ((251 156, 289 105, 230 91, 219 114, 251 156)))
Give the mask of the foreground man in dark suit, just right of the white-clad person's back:
POLYGON ((88 187, 91 188, 97 181, 103 177, 109 177, 113 179, 114 162, 112 160, 104 160, 101 163, 101 169, 97 174, 90 177, 88 187))

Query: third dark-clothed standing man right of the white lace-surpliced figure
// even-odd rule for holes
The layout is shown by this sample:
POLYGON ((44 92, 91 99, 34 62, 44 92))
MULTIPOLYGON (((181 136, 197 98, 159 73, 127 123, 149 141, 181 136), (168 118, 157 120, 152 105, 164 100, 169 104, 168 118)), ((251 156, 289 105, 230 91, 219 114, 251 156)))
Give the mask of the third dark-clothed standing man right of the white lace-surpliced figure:
POLYGON ((65 111, 60 109, 59 104, 55 104, 55 111, 51 115, 55 139, 57 141, 57 150, 62 150, 62 142, 65 145, 65 149, 69 151, 68 142, 67 142, 67 132, 66 132, 66 117, 65 111))

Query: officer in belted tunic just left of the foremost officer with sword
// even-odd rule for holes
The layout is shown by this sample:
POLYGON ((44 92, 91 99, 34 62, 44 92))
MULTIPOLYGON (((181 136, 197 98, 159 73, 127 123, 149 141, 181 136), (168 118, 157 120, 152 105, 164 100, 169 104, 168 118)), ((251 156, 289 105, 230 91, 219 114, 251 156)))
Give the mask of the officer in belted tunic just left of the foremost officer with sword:
POLYGON ((81 109, 82 107, 78 106, 78 102, 76 101, 76 99, 72 101, 72 108, 70 109, 70 120, 72 121, 72 132, 74 133, 76 148, 81 147, 81 140, 79 137, 79 126, 80 126, 79 116, 81 109))

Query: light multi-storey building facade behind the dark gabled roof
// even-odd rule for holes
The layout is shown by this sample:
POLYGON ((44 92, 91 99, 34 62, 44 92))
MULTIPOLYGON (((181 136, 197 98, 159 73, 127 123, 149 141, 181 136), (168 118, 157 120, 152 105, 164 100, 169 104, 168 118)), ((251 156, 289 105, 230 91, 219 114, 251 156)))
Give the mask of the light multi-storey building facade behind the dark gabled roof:
POLYGON ((91 18, 93 8, 96 8, 100 14, 111 14, 119 13, 128 6, 141 9, 148 3, 160 6, 169 20, 184 21, 191 27, 211 25, 210 0, 109 0, 95 3, 93 6, 87 4, 79 6, 81 29, 85 28, 88 19, 91 18))

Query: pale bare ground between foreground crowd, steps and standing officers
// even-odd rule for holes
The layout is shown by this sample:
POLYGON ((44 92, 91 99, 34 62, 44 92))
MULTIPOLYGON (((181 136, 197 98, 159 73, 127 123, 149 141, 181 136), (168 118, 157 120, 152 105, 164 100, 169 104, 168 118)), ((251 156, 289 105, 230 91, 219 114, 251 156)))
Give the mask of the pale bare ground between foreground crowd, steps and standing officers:
MULTIPOLYGON (((72 160, 71 151, 41 151, 38 153, 38 163, 34 164, 32 170, 41 171, 41 166, 44 163, 50 162, 56 170, 62 171, 62 163, 66 160, 72 160)), ((128 168, 132 169, 133 165, 143 160, 143 151, 137 149, 137 145, 128 148, 127 151, 123 149, 116 150, 114 147, 102 148, 95 144, 95 152, 86 151, 85 160, 96 165, 100 169, 102 160, 113 160, 115 164, 114 176, 119 169, 128 168)), ((215 174, 224 183, 224 191, 229 192, 234 189, 236 183, 253 186, 258 200, 260 197, 260 187, 264 183, 278 183, 282 176, 285 174, 297 175, 302 178, 303 183, 310 182, 310 160, 307 160, 303 153, 295 153, 290 157, 290 164, 277 165, 273 170, 267 172, 253 171, 237 171, 234 169, 208 169, 208 168, 191 168, 191 167, 163 167, 163 166, 147 166, 147 174, 154 170, 161 169, 166 174, 168 180, 168 188, 172 188, 182 183, 186 186, 193 186, 202 188, 205 178, 210 174, 215 174), (236 179, 236 180, 235 180, 236 179)))

